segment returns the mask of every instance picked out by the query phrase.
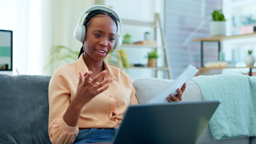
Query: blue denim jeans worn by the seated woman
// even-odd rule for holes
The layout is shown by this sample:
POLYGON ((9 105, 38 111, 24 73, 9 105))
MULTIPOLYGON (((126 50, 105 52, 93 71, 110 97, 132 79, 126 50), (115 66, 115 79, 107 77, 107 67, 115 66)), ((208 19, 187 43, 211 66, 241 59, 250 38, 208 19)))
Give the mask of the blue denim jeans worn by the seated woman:
POLYGON ((118 129, 116 128, 112 128, 112 129, 92 128, 92 129, 79 130, 79 133, 75 138, 74 144, 113 141, 114 136, 117 133, 117 130, 118 129))

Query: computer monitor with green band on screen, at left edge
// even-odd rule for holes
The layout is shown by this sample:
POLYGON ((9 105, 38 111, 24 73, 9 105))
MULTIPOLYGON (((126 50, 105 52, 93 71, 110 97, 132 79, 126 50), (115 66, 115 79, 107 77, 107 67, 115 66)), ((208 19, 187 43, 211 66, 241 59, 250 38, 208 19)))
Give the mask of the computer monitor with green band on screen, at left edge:
POLYGON ((13 31, 0 29, 0 71, 13 70, 13 31))

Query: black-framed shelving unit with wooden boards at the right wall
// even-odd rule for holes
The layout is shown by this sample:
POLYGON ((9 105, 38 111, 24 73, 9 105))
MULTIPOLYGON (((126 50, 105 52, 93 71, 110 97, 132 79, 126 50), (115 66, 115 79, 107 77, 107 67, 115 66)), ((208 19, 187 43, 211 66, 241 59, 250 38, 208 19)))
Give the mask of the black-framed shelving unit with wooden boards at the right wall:
POLYGON ((219 60, 220 41, 231 40, 231 39, 242 39, 242 38, 254 38, 254 37, 256 37, 256 33, 193 39, 193 41, 200 41, 200 43, 201 43, 201 68, 199 68, 199 70, 201 70, 201 71, 206 71, 206 70, 209 71, 211 69, 249 68, 249 75, 252 76, 252 69, 256 68, 256 67, 213 67, 213 68, 205 68, 204 67, 204 63, 203 63, 203 43, 204 42, 217 42, 218 43, 218 60, 219 60))

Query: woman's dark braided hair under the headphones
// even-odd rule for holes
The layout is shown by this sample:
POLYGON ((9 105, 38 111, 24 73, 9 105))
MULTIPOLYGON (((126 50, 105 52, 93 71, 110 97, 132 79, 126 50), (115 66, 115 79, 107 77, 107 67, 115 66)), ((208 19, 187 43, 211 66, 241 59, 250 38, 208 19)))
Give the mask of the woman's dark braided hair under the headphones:
MULTIPOLYGON (((117 19, 114 17, 114 15, 113 15, 112 13, 109 13, 109 12, 104 11, 104 10, 93 10, 93 11, 91 11, 91 12, 85 17, 84 22, 83 22, 83 25, 85 26, 86 31, 87 31, 88 26, 90 26, 90 23, 91 23, 90 20, 92 19, 92 17, 97 17, 97 15, 107 15, 107 16, 111 17, 112 20, 115 22, 115 24, 116 24, 117 27, 118 27, 117 19)), ((83 42, 83 45, 82 45, 82 47, 81 47, 81 49, 80 49, 80 53, 79 53, 79 55, 78 55, 78 58, 79 58, 80 55, 82 55, 82 53, 84 52, 83 46, 84 46, 84 42, 83 42)), ((78 58, 77 58, 77 59, 78 59, 78 58)))

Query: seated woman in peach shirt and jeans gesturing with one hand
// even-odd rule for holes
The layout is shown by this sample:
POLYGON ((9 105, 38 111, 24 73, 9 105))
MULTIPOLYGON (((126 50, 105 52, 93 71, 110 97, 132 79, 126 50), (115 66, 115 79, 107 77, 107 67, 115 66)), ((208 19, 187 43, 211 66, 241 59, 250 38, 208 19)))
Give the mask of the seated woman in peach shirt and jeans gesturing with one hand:
MULTIPOLYGON (((49 83, 52 143, 112 141, 127 106, 138 104, 129 76, 103 61, 117 47, 119 17, 104 6, 92 8, 78 60, 57 69, 49 83)), ((180 101, 184 90, 185 84, 167 100, 180 101)))

